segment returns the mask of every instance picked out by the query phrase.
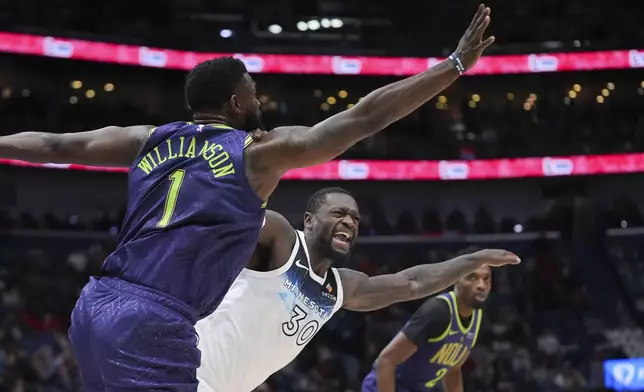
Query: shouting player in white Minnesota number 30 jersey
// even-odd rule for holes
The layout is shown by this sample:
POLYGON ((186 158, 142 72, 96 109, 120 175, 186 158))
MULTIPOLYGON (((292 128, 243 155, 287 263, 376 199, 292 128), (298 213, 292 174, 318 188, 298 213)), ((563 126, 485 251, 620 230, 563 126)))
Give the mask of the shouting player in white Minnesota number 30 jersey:
POLYGON ((252 391, 288 365, 342 307, 383 308, 436 293, 482 265, 519 262, 510 252, 484 250, 371 278, 332 268, 348 259, 359 222, 356 201, 340 188, 311 196, 303 232, 267 211, 248 267, 217 310, 197 322, 199 391, 252 391))

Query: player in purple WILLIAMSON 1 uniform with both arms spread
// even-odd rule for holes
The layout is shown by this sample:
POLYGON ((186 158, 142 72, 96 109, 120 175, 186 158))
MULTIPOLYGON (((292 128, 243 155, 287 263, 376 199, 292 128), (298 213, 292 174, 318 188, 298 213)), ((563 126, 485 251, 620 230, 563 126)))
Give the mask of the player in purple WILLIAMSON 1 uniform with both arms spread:
POLYGON ((452 84, 494 41, 483 40, 489 15, 481 5, 448 60, 311 128, 280 127, 255 139, 255 83, 243 62, 224 57, 188 75, 193 122, 0 138, 3 158, 130 167, 116 250, 72 313, 83 389, 195 391, 194 324, 249 261, 281 176, 337 157, 452 84))

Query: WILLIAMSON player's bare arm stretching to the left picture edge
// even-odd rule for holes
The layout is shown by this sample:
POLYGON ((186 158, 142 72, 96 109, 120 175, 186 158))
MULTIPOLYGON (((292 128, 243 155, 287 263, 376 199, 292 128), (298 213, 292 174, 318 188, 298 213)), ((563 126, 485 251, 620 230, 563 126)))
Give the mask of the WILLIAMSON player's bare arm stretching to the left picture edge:
POLYGON ((110 126, 87 132, 21 132, 0 137, 0 157, 36 163, 130 166, 152 125, 110 126))

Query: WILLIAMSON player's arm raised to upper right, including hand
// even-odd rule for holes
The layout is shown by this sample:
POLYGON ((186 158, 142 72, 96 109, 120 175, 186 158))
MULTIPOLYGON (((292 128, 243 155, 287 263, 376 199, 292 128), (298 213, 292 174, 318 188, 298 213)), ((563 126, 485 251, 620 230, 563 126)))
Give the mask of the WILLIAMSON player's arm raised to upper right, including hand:
POLYGON ((267 197, 289 169, 329 161, 349 147, 407 116, 443 91, 462 71, 473 67, 494 37, 483 40, 490 9, 481 5, 461 38, 454 60, 389 84, 364 97, 351 109, 312 128, 281 127, 266 134, 246 151, 250 174, 259 196, 267 197), (457 65, 458 64, 458 65, 457 65))

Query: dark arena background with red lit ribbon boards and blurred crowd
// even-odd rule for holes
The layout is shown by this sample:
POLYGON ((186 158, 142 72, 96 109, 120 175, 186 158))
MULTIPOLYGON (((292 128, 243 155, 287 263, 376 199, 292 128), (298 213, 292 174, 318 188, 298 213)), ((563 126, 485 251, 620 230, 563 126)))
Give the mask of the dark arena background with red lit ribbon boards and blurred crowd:
MULTIPOLYGON (((257 81, 267 128, 312 125, 422 72, 478 4, 367 0, 21 0, 0 5, 0 135, 162 124, 186 72, 222 54, 257 81)), ((361 206, 350 266, 377 274, 470 245, 494 271, 465 390, 644 390, 644 6, 493 0, 467 75, 340 160, 289 172, 269 207, 301 227, 315 190, 361 206), (641 358, 641 359, 638 359, 641 358)), ((127 174, 0 160, 0 390, 78 390, 67 340, 114 247, 127 174)), ((421 301, 341 311, 259 391, 359 391, 421 301)))

